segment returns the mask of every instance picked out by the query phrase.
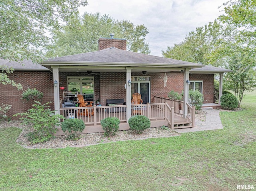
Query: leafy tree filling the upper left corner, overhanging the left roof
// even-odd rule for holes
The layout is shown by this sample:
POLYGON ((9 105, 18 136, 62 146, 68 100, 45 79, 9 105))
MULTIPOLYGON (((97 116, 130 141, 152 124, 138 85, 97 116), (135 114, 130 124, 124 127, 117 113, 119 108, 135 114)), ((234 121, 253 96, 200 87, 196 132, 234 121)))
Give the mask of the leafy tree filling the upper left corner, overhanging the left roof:
POLYGON ((11 61, 42 59, 46 31, 86 6, 86 0, 4 0, 0 2, 0 58, 11 61))

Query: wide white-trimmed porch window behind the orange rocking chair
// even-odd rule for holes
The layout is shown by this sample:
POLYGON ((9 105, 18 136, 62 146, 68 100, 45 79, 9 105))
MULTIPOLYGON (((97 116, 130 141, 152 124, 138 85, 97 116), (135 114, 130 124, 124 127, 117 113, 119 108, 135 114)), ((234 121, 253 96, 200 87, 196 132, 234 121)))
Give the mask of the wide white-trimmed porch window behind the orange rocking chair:
POLYGON ((94 77, 68 77, 68 91, 78 89, 85 101, 94 100, 94 77))

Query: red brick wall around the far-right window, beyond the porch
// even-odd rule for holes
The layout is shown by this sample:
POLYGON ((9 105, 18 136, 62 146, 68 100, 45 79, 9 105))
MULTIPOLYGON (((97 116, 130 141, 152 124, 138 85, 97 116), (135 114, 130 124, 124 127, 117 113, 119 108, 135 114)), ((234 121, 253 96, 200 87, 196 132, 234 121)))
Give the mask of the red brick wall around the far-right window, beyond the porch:
POLYGON ((213 103, 214 74, 190 74, 189 80, 203 81, 204 103, 213 103))

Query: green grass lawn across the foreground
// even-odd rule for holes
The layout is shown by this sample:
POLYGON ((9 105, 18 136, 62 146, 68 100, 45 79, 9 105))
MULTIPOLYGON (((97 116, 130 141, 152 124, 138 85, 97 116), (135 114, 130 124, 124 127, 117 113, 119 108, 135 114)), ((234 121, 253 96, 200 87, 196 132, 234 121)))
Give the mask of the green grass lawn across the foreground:
POLYGON ((221 112, 222 130, 84 148, 25 149, 0 129, 0 190, 219 191, 256 187, 256 100, 221 112))

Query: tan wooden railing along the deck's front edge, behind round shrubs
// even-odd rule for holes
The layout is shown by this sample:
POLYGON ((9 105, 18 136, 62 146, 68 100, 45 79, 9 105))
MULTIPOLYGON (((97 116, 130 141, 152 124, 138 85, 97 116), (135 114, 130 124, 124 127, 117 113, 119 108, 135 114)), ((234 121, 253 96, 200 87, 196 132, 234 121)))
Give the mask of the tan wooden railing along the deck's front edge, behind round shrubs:
MULTIPOLYGON (((121 122, 127 121, 126 105, 117 106, 91 106, 91 107, 72 107, 60 108, 60 114, 64 118, 78 118, 82 119, 85 124, 100 124, 100 121, 107 117, 117 117, 121 122), (94 113, 92 115, 92 113, 94 113)), ((150 120, 168 120, 173 127, 174 108, 171 108, 167 103, 154 104, 133 104, 131 107, 131 114, 144 115, 150 120)))

